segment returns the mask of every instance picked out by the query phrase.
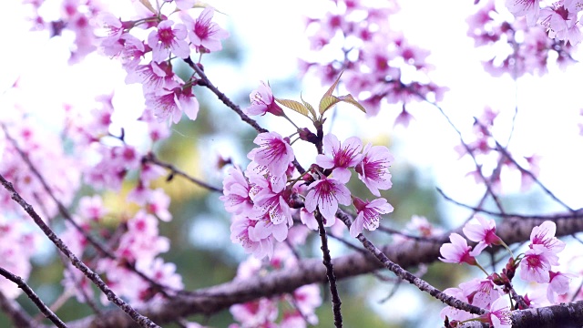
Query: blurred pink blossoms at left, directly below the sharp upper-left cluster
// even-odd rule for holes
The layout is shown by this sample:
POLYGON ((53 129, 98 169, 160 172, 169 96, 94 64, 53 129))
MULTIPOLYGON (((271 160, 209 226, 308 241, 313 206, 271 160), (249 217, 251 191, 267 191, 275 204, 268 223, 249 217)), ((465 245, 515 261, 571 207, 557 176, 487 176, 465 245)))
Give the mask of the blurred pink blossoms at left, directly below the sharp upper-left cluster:
MULTIPOLYGON (((128 192, 126 201, 137 204, 141 210, 134 214, 110 213, 103 200, 96 195, 79 201, 74 220, 86 233, 102 230, 105 239, 111 238, 112 234, 112 231, 104 229, 106 216, 123 220, 113 243, 112 255, 115 259, 98 259, 95 266, 97 272, 107 277, 107 284, 119 296, 132 304, 142 304, 161 297, 159 288, 152 282, 169 288, 169 291, 179 290, 183 285, 176 273, 176 265, 159 258, 161 253, 169 251, 169 239, 159 235, 159 220, 169 221, 172 216, 169 196, 162 189, 153 189, 151 181, 163 176, 165 170, 148 163, 145 160, 148 153, 129 145, 125 141, 124 130, 119 136, 111 134, 109 126, 113 111, 111 96, 98 97, 96 108, 90 116, 82 116, 76 108, 68 108, 67 136, 74 140, 80 153, 93 159, 85 163, 82 171, 87 185, 95 190, 119 192, 122 185, 130 181, 128 176, 137 173, 138 178, 131 182, 133 188, 128 192), (140 277, 138 272, 148 277, 149 281, 140 277)), ((160 123, 151 112, 145 111, 139 121, 148 127, 150 147, 169 136, 168 125, 160 123)), ((86 235, 69 223, 66 228, 64 240, 69 245, 77 246, 72 248, 77 255, 83 255, 87 246, 86 235)), ((87 280, 77 270, 67 271, 63 284, 74 290, 79 302, 93 295, 87 280)))

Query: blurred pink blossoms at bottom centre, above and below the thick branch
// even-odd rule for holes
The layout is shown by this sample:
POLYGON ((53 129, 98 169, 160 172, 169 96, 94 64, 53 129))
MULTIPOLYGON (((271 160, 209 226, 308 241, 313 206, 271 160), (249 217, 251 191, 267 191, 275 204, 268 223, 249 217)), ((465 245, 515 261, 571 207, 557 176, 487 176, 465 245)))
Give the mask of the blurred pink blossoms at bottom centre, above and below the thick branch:
MULTIPOLYGON (((290 244, 292 246, 303 244, 308 232, 309 230, 301 226, 293 227, 290 230, 290 244)), ((296 268, 297 262, 298 259, 293 255, 290 246, 278 243, 269 261, 261 261, 255 257, 242 261, 234 281, 258 277, 273 270, 296 268)), ((314 311, 320 305, 322 305, 320 287, 317 284, 305 285, 289 294, 232 305, 230 313, 238 323, 232 323, 229 327, 302 328, 317 325, 318 317, 314 311), (280 317, 281 320, 277 323, 280 317)))

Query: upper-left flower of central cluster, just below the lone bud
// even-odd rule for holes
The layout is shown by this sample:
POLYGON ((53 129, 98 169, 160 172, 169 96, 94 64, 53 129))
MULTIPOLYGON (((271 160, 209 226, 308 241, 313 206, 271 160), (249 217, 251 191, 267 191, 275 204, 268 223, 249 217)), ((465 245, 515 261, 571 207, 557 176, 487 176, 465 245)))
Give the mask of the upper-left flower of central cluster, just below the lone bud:
POLYGON ((277 132, 261 133, 253 140, 259 149, 253 149, 248 157, 267 167, 273 176, 281 176, 292 162, 293 149, 290 143, 277 132))

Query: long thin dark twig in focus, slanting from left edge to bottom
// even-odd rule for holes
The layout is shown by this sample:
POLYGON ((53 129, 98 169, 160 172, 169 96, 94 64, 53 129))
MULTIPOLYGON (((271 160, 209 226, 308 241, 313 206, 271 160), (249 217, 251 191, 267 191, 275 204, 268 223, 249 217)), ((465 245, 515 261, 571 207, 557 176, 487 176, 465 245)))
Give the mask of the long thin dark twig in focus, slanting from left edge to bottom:
POLYGON ((152 321, 149 320, 147 317, 139 314, 127 302, 124 302, 122 299, 120 299, 118 297, 118 295, 116 295, 115 292, 113 292, 111 289, 109 289, 109 287, 107 287, 107 284, 105 282, 103 282, 103 280, 101 280, 101 278, 99 278, 97 273, 95 273, 91 269, 89 269, 89 267, 87 267, 87 265, 83 261, 80 261, 77 258, 77 256, 72 251, 70 251, 68 249, 68 247, 66 247, 65 242, 63 242, 60 238, 58 238, 56 236, 55 232, 52 231, 50 229, 50 227, 46 225, 45 221, 42 220, 40 218, 40 216, 38 216, 35 209, 33 209, 33 207, 30 204, 28 204, 26 202, 26 200, 24 200, 22 197, 20 197, 18 192, 16 192, 16 190, 12 186, 12 183, 7 181, 4 178, 4 176, 2 176, 1 174, 0 174, 0 183, 2 183, 5 190, 7 190, 11 194, 12 200, 15 200, 15 202, 18 203, 18 205, 20 205, 23 208, 23 210, 26 211, 28 216, 30 216, 30 218, 35 221, 36 225, 45 233, 46 237, 55 244, 56 248, 58 248, 59 251, 61 251, 63 254, 65 254, 66 257, 69 259, 69 261, 71 261, 71 263, 80 272, 83 272, 83 274, 85 274, 85 276, 87 278, 89 278, 89 280, 91 282, 95 283, 97 288, 99 288, 99 290, 101 290, 101 292, 106 294, 107 300, 116 304, 118 306, 118 308, 123 310, 124 313, 128 314, 128 316, 134 322, 138 323, 140 326, 151 327, 151 328, 159 327, 156 323, 152 323, 152 321))

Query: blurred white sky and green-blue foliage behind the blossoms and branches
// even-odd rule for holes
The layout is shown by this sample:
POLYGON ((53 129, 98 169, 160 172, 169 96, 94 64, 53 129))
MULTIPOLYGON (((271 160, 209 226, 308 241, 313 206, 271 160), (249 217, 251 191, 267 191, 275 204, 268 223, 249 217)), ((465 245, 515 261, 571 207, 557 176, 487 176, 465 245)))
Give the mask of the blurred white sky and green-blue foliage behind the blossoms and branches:
MULTIPOLYGON (((117 6, 123 6, 112 3, 114 13, 117 6)), ((301 77, 298 58, 306 56, 309 47, 305 37, 306 16, 322 15, 327 1, 224 0, 208 3, 224 13, 216 14, 216 21, 230 32, 230 38, 223 43, 223 51, 203 58, 205 72, 221 91, 245 108, 249 106, 251 90, 263 80, 270 82, 276 97, 299 99, 302 93, 303 99, 312 104, 319 101, 328 86, 321 86, 313 76, 301 77)), ((473 118, 489 106, 500 112, 496 132, 505 136, 512 128, 513 111, 518 106, 513 149, 522 156, 541 156, 541 181, 571 208, 582 207, 580 168, 583 158, 579 150, 583 144, 578 123, 583 123, 583 118, 579 115, 582 105, 578 95, 583 71, 580 65, 562 71, 551 63, 547 76, 526 76, 517 81, 507 76, 490 77, 480 63, 486 56, 483 49, 476 49, 473 40, 465 36, 465 17, 475 11, 471 2, 444 5, 420 0, 403 1, 400 5, 400 13, 392 17, 393 24, 399 26, 412 44, 431 51, 427 61, 435 66, 435 71, 429 76, 438 85, 450 88, 441 106, 456 127, 470 138, 473 118)), ((4 92, 0 98, 0 119, 10 115, 7 106, 18 102, 26 108, 37 108, 36 119, 58 129, 64 102, 82 107, 87 99, 109 94, 113 88, 116 107, 113 129, 124 127, 128 142, 142 145, 145 130, 135 123, 143 110, 141 87, 124 84, 125 73, 118 62, 93 54, 87 56, 84 63, 68 67, 66 45, 70 40, 66 40, 66 36, 48 39, 46 33, 31 32, 30 22, 26 21, 26 7, 18 2, 5 6, 5 13, 10 13, 10 17, 0 21, 6 46, 0 52, 0 92, 4 92), (8 47, 12 50, 8 51, 8 47), (16 78, 21 88, 34 91, 36 97, 16 99, 17 96, 6 92, 16 78)), ((179 74, 187 74, 185 67, 178 69, 179 74)), ((155 151, 159 159, 220 187, 225 170, 220 169, 220 159, 231 159, 246 166, 246 154, 253 148, 256 134, 208 90, 195 89, 195 93, 200 103, 199 118, 194 122, 182 120, 172 126, 172 137, 157 144, 155 151)), ((384 226, 404 230, 411 217, 418 215, 444 230, 455 228, 471 213, 445 201, 436 188, 455 200, 472 205, 483 195, 484 188, 465 176, 474 169, 474 164, 469 159, 458 160, 454 148, 459 138, 445 117, 427 104, 408 108, 414 116, 408 128, 394 127, 394 118, 401 110, 399 105, 386 106, 374 118, 340 105, 334 109, 328 126, 332 126, 332 132, 341 140, 359 136, 364 142, 384 145, 393 152, 394 185, 382 194, 395 210, 382 221, 384 226)), ((309 127, 308 120, 299 116, 292 118, 297 124, 309 127)), ((293 131, 292 126, 280 118, 263 117, 258 121, 263 127, 281 134, 293 131)), ((294 146, 298 159, 307 167, 315 151, 301 149, 294 146)), ((516 175, 507 173, 502 179, 501 200, 506 210, 526 214, 562 210, 537 188, 521 192, 517 172, 516 175)), ((132 186, 131 180, 127 183, 122 194, 132 186)), ((220 195, 179 177, 169 183, 164 178, 159 179, 156 187, 166 190, 172 199, 173 220, 159 225, 160 234, 171 240, 171 251, 162 257, 177 264, 186 289, 229 282, 246 255, 239 245, 230 241, 230 215, 223 209, 220 195)), ((356 183, 351 186, 354 194, 363 193, 362 189, 356 183)), ((120 196, 124 195, 106 193, 107 208, 120 214, 136 210, 128 208, 120 196)), ((487 203, 486 208, 494 209, 487 203)), ((368 236, 378 244, 392 240, 392 236, 381 231, 368 233, 368 236)), ((314 234, 309 238, 302 255, 321 257, 316 237, 314 234)), ((331 244, 332 257, 350 252, 336 241, 331 244)), ((63 292, 60 285, 62 264, 56 259, 52 245, 46 242, 44 250, 34 258, 28 282, 41 299, 50 304, 63 292)), ((570 242, 568 251, 573 254, 569 256, 575 256, 583 250, 579 243, 570 242)), ((580 269, 575 264, 568 271, 579 272, 580 269)), ((477 274, 465 266, 441 262, 409 270, 426 270, 424 279, 441 290, 456 287, 477 274)), ((394 277, 390 272, 383 274, 394 277)), ((578 282, 580 280, 574 285, 578 282)), ((329 291, 324 288, 322 295, 323 304, 318 310, 320 326, 329 327, 333 325, 329 291)), ((340 295, 346 327, 435 327, 441 324, 438 313, 443 305, 405 283, 395 284, 372 276, 357 277, 340 282, 340 295)), ((25 296, 21 295, 18 301, 29 313, 37 313, 25 296)), ((90 313, 74 299, 66 301, 57 312, 65 322, 90 313)), ((191 319, 212 327, 226 327, 233 322, 228 311, 191 319)), ((0 313, 0 326, 9 324, 0 313)))

